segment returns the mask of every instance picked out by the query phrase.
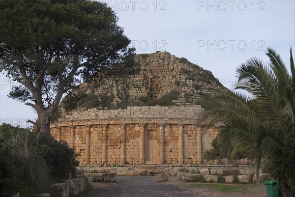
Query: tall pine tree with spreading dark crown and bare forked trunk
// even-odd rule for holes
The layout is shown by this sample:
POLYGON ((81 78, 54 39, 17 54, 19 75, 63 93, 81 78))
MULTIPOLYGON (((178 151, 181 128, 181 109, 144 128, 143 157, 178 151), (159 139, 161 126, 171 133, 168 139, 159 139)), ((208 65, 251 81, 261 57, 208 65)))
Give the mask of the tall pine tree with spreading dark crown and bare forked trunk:
POLYGON ((0 71, 20 84, 9 97, 30 101, 39 131, 50 135, 62 95, 80 79, 133 56, 117 22, 97 1, 0 0, 0 71))

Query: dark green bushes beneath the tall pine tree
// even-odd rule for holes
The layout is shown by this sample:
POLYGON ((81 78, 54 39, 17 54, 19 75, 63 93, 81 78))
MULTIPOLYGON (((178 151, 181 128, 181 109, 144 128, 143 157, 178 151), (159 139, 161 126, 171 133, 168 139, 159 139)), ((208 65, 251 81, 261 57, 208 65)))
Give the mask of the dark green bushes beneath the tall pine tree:
POLYGON ((0 126, 0 197, 20 192, 21 197, 49 192, 52 180, 75 175, 77 154, 58 142, 28 129, 0 126))

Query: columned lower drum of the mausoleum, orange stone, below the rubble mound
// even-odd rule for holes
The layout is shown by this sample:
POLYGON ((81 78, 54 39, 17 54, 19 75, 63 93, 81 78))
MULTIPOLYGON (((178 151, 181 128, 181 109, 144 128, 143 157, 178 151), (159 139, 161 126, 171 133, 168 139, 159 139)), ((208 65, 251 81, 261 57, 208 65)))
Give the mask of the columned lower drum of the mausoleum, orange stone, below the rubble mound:
POLYGON ((141 106, 74 112, 51 125, 87 164, 202 164, 217 127, 204 130, 201 106, 141 106))

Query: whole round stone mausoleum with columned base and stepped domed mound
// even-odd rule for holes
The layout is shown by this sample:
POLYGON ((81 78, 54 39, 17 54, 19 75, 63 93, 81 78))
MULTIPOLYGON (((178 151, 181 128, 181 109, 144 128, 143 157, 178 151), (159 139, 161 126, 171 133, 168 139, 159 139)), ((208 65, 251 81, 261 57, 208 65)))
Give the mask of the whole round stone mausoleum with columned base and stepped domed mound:
POLYGON ((135 73, 102 73, 67 95, 51 134, 81 154, 80 165, 202 164, 217 128, 205 131, 200 105, 225 87, 167 52, 135 62, 135 73))

